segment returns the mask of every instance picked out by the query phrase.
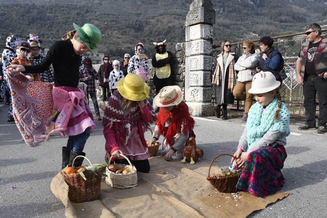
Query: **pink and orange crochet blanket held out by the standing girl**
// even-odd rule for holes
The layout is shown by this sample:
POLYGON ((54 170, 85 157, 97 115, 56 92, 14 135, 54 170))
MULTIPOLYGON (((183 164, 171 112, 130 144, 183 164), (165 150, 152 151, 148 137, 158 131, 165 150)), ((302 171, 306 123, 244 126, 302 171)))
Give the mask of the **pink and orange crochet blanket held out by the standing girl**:
POLYGON ((15 123, 25 143, 30 147, 45 141, 45 124, 52 116, 51 83, 31 81, 29 76, 10 68, 7 73, 11 90, 15 123))

